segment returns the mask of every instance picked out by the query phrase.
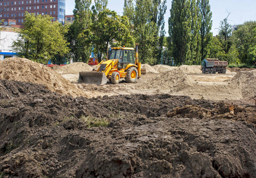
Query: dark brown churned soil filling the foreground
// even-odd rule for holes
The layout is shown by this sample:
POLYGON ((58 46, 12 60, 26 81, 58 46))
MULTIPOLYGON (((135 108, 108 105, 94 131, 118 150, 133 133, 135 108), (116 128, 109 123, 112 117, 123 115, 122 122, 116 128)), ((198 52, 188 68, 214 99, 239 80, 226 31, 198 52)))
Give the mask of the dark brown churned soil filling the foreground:
POLYGON ((0 173, 256 177, 255 112, 256 107, 167 94, 91 99, 16 95, 0 102, 0 173), (108 125, 92 127, 88 117, 107 119, 108 125))

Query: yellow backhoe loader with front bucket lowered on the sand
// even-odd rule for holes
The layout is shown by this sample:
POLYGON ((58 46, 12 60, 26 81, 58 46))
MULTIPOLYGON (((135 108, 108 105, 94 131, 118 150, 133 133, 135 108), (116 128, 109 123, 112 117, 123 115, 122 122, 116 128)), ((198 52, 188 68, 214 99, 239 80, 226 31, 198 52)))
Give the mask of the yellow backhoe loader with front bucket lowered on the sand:
POLYGON ((87 84, 118 84, 121 78, 126 82, 137 82, 141 77, 141 63, 138 61, 138 44, 132 47, 112 47, 108 61, 102 61, 93 71, 79 72, 78 82, 87 84))

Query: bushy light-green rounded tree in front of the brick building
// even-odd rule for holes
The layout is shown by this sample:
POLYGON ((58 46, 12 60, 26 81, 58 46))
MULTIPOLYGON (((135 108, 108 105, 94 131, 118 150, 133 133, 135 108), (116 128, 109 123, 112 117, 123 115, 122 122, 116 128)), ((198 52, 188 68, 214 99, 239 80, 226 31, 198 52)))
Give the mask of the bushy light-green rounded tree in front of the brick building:
POLYGON ((53 21, 53 17, 36 16, 26 12, 23 26, 18 40, 12 43, 12 48, 18 56, 47 63, 55 55, 64 56, 68 53, 68 43, 64 37, 67 27, 62 26, 58 21, 53 21))

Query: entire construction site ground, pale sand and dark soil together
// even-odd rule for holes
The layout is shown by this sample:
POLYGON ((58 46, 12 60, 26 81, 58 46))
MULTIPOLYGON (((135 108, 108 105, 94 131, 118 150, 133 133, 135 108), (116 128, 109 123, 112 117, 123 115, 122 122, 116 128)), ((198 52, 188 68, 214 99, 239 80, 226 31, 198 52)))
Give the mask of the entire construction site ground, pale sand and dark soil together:
POLYGON ((144 68, 94 85, 84 63, 1 61, 0 177, 256 177, 256 70, 144 68))

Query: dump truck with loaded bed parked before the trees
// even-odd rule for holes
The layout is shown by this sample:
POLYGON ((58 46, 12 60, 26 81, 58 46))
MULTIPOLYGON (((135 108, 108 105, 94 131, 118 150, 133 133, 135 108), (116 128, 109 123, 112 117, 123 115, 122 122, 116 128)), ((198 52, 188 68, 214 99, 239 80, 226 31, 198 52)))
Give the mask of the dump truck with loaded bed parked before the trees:
POLYGON ((204 59, 201 62, 201 70, 203 74, 226 74, 227 61, 219 61, 219 59, 204 59))

